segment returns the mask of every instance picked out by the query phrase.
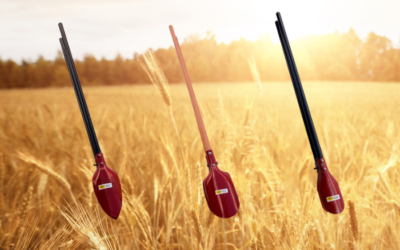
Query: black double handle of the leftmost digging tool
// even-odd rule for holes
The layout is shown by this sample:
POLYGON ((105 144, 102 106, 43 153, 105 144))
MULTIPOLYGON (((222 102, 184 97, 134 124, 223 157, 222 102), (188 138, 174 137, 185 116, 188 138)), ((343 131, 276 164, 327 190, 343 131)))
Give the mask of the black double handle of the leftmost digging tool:
POLYGON ((89 109, 86 105, 85 96, 82 91, 82 87, 79 81, 78 73, 75 68, 74 59, 71 54, 71 50, 68 44, 67 36, 64 31, 62 23, 58 24, 61 32, 60 44, 63 50, 64 58, 67 63, 68 72, 71 77, 72 85, 75 90, 76 99, 78 100, 79 108, 81 110, 82 118, 85 123, 86 132, 89 137, 90 145, 92 146, 93 154, 96 155, 101 153, 99 143, 97 141, 96 132, 93 127, 92 119, 90 118, 89 109))

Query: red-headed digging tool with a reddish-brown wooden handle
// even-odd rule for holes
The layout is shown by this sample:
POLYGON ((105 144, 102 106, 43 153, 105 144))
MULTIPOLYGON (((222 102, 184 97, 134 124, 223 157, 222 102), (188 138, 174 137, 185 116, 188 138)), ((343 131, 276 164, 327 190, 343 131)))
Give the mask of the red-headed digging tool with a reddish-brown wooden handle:
POLYGON ((178 38, 175 36, 174 28, 171 25, 169 26, 169 30, 171 31, 176 53, 178 54, 179 62, 183 71, 183 76, 185 77, 186 85, 189 90, 190 99, 194 109, 194 115, 196 116, 201 140, 203 141, 204 151, 206 152, 207 166, 210 169, 210 173, 203 181, 203 188, 208 207, 216 216, 221 218, 229 218, 234 216, 239 211, 239 198, 236 193, 235 186, 233 185, 231 176, 227 172, 223 172, 218 168, 218 162, 215 160, 214 153, 211 150, 210 142, 208 141, 206 128, 204 127, 203 119, 201 118, 199 106, 197 105, 196 96, 194 95, 185 61, 183 60, 178 38))

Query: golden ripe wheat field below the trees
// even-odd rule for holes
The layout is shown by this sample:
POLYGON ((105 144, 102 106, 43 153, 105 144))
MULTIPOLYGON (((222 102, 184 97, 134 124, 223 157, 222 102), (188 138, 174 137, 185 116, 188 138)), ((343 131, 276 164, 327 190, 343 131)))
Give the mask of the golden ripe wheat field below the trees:
POLYGON ((236 216, 208 210, 208 169, 184 84, 170 85, 171 107, 152 85, 84 88, 123 187, 116 221, 92 190, 94 159, 72 87, 3 90, 1 249, 400 248, 399 84, 304 83, 345 199, 340 215, 319 202, 290 82, 194 89, 219 166, 239 194, 236 216))

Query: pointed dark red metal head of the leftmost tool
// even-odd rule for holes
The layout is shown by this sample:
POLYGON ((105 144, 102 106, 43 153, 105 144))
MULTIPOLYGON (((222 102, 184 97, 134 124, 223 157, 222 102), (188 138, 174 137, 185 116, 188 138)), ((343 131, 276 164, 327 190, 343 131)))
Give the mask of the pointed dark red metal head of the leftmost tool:
POLYGON ((122 207, 121 183, 118 175, 109 167, 102 153, 96 154, 97 170, 93 175, 93 189, 104 212, 117 219, 122 207))

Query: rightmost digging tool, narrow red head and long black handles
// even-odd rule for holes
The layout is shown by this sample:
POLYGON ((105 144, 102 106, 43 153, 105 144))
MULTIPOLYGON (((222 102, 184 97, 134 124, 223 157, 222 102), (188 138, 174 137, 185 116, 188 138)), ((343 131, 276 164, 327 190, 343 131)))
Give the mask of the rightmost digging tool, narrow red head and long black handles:
POLYGON ((315 169, 318 171, 317 189, 319 199, 321 200, 322 207, 325 211, 332 214, 339 214, 344 209, 342 193, 340 192, 339 184, 335 178, 333 178, 331 173, 329 173, 328 166, 326 165, 325 159, 322 155, 317 133, 315 132, 310 110, 308 109, 306 96, 304 95, 299 73, 297 72, 292 50, 290 48, 289 39, 287 38, 285 27, 283 26, 281 14, 278 12, 276 13, 276 16, 278 17, 278 21, 275 22, 276 28, 278 29, 279 39, 281 40, 283 53, 285 54, 290 77, 292 78, 301 116, 303 117, 308 140, 310 141, 314 155, 316 165, 315 169))

